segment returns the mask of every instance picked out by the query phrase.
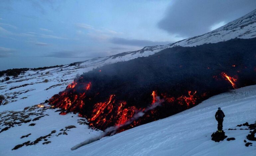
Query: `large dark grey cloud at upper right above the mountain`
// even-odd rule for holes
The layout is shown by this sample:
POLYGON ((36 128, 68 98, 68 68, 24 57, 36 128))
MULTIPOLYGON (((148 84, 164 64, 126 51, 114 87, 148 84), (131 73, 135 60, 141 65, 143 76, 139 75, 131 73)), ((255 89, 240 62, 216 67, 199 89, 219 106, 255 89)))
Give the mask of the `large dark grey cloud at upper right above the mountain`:
POLYGON ((255 0, 174 0, 158 26, 170 34, 193 37, 209 32, 214 24, 239 18, 255 6, 255 0))

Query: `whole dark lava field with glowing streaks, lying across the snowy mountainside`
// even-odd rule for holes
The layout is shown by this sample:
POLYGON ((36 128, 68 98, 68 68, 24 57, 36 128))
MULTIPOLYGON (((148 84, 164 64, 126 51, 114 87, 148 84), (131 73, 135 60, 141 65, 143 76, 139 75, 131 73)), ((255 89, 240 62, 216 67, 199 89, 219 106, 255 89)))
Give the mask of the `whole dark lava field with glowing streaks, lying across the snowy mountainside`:
POLYGON ((101 130, 125 124, 156 102, 162 107, 142 111, 144 117, 122 130, 165 118, 213 95, 255 85, 255 42, 256 38, 232 39, 176 46, 102 66, 82 74, 49 104, 62 108, 63 113, 77 112, 101 130))

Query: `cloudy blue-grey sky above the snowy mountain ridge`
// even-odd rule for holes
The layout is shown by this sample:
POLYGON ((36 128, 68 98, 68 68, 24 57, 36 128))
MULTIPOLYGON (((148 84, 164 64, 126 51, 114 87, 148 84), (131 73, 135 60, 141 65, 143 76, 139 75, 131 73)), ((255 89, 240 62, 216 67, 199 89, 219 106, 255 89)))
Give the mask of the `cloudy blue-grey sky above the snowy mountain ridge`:
POLYGON ((254 9, 255 0, 1 0, 0 70, 168 44, 254 9))

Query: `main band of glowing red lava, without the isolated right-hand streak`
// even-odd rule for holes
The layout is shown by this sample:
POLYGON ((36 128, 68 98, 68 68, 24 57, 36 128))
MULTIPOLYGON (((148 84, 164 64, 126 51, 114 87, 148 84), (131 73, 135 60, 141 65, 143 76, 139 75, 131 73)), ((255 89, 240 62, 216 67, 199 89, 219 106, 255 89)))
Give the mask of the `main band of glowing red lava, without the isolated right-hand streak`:
MULTIPOLYGON (((49 104, 56 108, 62 109, 61 115, 68 112, 79 113, 80 117, 86 117, 89 125, 104 130, 110 126, 120 126, 126 124, 126 127, 118 132, 138 126, 145 122, 151 122, 158 117, 157 106, 155 103, 165 103, 165 105, 180 105, 184 109, 188 109, 196 104, 199 96, 196 91, 188 91, 188 96, 181 95, 179 97, 171 97, 167 94, 157 95, 157 91, 152 91, 149 103, 146 107, 135 106, 120 100, 116 95, 112 94, 106 100, 98 100, 100 93, 94 92, 91 82, 79 82, 75 80, 69 84, 63 92, 54 95, 49 104), (161 99, 161 100, 159 100, 161 99), (152 107, 154 106, 154 107, 152 107), (150 107, 150 109, 148 109, 150 107), (134 119, 134 115, 143 112, 145 116, 134 119), (131 119, 134 121, 131 121, 131 119), (141 123, 143 121, 143 123, 141 123), (129 125, 127 125, 129 123, 129 125)), ((170 116, 170 115, 167 115, 170 116)))

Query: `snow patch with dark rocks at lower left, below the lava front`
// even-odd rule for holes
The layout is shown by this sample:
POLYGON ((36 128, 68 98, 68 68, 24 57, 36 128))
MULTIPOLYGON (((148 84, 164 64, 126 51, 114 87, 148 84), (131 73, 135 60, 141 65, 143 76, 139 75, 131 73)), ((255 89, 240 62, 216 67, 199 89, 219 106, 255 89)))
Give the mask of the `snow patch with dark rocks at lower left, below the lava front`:
POLYGON ((99 131, 88 129, 87 125, 80 125, 77 119, 81 119, 74 114, 59 115, 56 110, 47 110, 49 116, 40 118, 35 126, 28 126, 29 123, 21 126, 11 127, 9 130, 0 133, 0 140, 4 140, 0 146, 0 155, 66 155, 70 151, 70 146, 75 145, 77 141, 83 141, 88 137, 99 135, 99 131), (73 116, 73 117, 72 117, 73 116), (74 125, 76 128, 66 131, 67 135, 56 136, 65 126, 74 125), (18 144, 26 141, 34 141, 40 136, 45 136, 51 131, 56 130, 51 138, 47 138, 51 143, 43 145, 45 141, 41 141, 36 145, 23 146, 17 150, 11 150, 18 144), (31 133, 29 137, 20 138, 23 135, 31 133))

